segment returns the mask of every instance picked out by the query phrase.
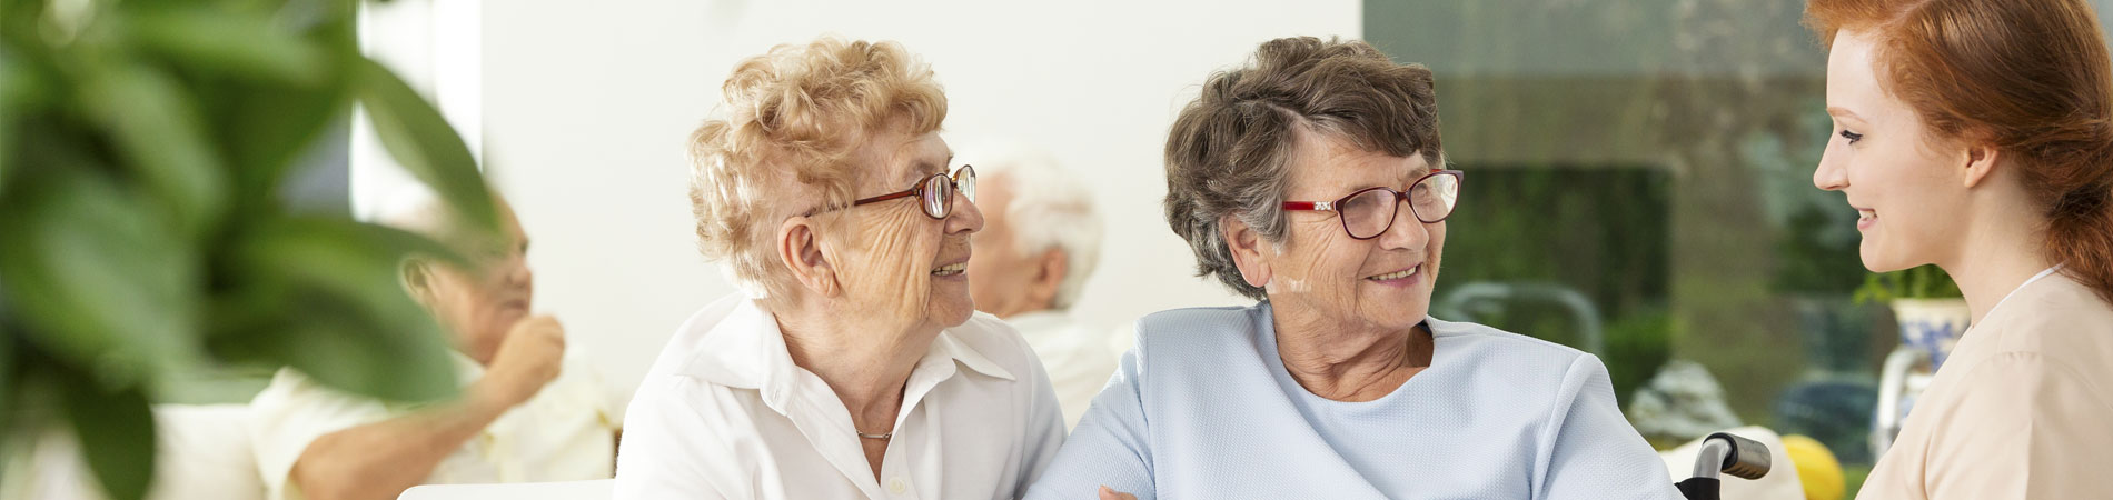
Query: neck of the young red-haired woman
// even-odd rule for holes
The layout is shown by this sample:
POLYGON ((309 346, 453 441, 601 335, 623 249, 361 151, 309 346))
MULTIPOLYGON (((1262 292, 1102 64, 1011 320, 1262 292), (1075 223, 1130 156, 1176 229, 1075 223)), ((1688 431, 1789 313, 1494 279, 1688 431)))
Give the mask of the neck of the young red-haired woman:
POLYGON ((1980 323, 2018 285, 2041 270, 2054 266, 2041 253, 2045 236, 2043 222, 2024 211, 1990 215, 1988 224, 1974 224, 1963 232, 1959 255, 1938 262, 1944 274, 1959 283, 1959 295, 1967 300, 1971 321, 1980 323))

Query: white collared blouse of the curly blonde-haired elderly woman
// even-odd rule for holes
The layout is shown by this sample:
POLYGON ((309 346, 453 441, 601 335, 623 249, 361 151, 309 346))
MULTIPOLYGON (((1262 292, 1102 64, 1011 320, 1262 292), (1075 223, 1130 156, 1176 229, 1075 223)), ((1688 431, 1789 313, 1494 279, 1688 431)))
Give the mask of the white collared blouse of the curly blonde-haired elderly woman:
POLYGON ((746 295, 693 314, 625 414, 615 498, 1018 498, 1065 439, 1033 350, 976 312, 911 371, 877 481, 849 409, 746 295))

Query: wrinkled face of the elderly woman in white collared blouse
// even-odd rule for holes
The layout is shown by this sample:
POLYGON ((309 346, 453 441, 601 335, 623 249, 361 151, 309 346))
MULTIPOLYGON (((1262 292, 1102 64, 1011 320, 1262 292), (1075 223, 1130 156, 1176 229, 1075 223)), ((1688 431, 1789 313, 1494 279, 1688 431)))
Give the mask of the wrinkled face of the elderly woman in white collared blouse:
MULTIPOLYGON (((856 156, 854 196, 909 190, 934 173, 953 173, 953 152, 938 133, 877 133, 856 156)), ((830 211, 841 217, 822 241, 822 255, 843 285, 852 310, 892 314, 896 331, 955 327, 974 312, 968 295, 968 238, 983 230, 983 213, 968 196, 953 196, 945 219, 923 213, 917 196, 830 211)), ((828 217, 828 215, 824 215, 828 217)))

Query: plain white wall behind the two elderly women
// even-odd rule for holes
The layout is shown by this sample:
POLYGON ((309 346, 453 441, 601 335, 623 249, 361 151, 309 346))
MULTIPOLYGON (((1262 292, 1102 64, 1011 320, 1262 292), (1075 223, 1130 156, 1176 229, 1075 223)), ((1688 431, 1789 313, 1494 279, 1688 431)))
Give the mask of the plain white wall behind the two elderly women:
MULTIPOLYGON (((1056 154, 1109 215, 1076 314, 1116 327, 1245 304, 1190 276, 1166 230, 1160 148, 1196 86, 1276 36, 1361 32, 1357 0, 484 2, 484 158, 532 238, 537 306, 617 386, 691 310, 731 291, 693 245, 682 139, 742 57, 820 34, 898 40, 949 97, 949 137, 1056 154)), ((972 160, 972 158, 970 158, 972 160)))

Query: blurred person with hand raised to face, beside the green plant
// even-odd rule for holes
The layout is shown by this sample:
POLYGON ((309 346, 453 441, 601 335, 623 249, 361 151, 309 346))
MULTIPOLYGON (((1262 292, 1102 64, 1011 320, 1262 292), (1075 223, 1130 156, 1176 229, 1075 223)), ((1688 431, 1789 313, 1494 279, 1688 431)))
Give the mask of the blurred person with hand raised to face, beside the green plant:
POLYGON ((281 369, 251 401, 268 498, 397 498, 420 483, 609 479, 617 401, 564 346, 558 319, 530 314, 535 274, 513 209, 503 232, 467 238, 433 196, 395 203, 385 224, 461 251, 469 266, 414 257, 401 278, 452 335, 459 401, 404 407, 330 390, 281 369))

